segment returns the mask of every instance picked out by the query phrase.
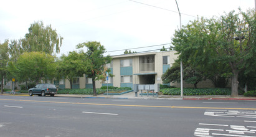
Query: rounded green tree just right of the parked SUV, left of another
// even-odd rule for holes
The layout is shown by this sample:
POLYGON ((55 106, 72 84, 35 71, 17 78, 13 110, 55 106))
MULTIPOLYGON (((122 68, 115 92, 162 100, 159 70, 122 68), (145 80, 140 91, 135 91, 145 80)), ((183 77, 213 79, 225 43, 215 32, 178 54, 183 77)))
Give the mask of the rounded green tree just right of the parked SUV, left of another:
POLYGON ((57 65, 57 73, 61 78, 67 78, 72 89, 74 77, 83 77, 83 73, 88 68, 88 62, 83 52, 69 52, 69 55, 62 55, 60 62, 57 65))

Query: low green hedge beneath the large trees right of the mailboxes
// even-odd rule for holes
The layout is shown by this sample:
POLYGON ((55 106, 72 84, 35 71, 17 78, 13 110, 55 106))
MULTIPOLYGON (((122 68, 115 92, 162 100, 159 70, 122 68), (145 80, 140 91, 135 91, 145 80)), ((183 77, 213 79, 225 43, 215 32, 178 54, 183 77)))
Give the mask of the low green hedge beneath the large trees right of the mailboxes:
MULTIPOLYGON (((181 88, 163 88, 163 95, 181 95, 181 88)), ((231 95, 230 88, 183 88, 183 95, 231 95)), ((243 92, 239 90, 239 95, 243 92)))

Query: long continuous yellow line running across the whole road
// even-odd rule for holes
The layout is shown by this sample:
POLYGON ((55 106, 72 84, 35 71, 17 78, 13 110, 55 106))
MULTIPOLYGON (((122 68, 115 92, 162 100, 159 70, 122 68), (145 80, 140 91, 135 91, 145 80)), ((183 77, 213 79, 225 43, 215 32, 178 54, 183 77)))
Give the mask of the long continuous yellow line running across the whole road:
POLYGON ((0 99, 17 102, 43 102, 43 103, 66 103, 66 104, 79 104, 79 105, 103 105, 103 106, 134 106, 134 107, 150 107, 150 108, 195 108, 195 109, 219 109, 219 110, 256 110, 256 108, 218 108, 218 107, 200 107, 200 106, 151 106, 151 105, 120 105, 120 104, 103 104, 103 103, 79 103, 79 102, 49 102, 40 100, 13 100, 13 99, 0 99))

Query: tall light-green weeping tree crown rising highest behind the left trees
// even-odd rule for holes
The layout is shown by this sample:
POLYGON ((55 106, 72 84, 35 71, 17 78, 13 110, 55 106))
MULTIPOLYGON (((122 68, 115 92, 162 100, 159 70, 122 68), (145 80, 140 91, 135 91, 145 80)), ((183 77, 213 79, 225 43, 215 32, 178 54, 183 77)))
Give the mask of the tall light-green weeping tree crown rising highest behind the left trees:
POLYGON ((60 52, 63 37, 57 34, 52 26, 44 26, 42 21, 34 22, 29 32, 22 39, 22 49, 25 52, 44 52, 50 55, 60 52))

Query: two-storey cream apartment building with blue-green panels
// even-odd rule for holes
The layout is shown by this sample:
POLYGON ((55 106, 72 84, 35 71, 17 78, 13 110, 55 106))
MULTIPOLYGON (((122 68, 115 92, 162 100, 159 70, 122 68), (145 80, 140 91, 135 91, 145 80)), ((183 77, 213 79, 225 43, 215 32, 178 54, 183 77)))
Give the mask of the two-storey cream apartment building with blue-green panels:
MULTIPOLYGON (((164 51, 164 52, 146 52, 135 54, 124 54, 112 56, 113 60, 110 64, 107 64, 108 69, 111 70, 111 74, 114 77, 109 77, 108 80, 96 81, 96 88, 102 86, 114 86, 114 87, 131 87, 133 84, 154 84, 161 83, 161 75, 171 67, 174 60, 178 58, 175 54, 176 51, 164 51)), ((54 84, 59 88, 70 88, 69 80, 60 79, 55 80, 54 84)), ((180 83, 168 83, 168 85, 174 85, 180 87, 180 83)), ((193 87, 192 84, 184 83, 184 87, 193 87)), ((75 88, 92 88, 92 78, 88 78, 85 75, 83 77, 73 78, 73 89, 75 88)), ((200 82, 198 87, 212 87, 211 82, 200 82)))

